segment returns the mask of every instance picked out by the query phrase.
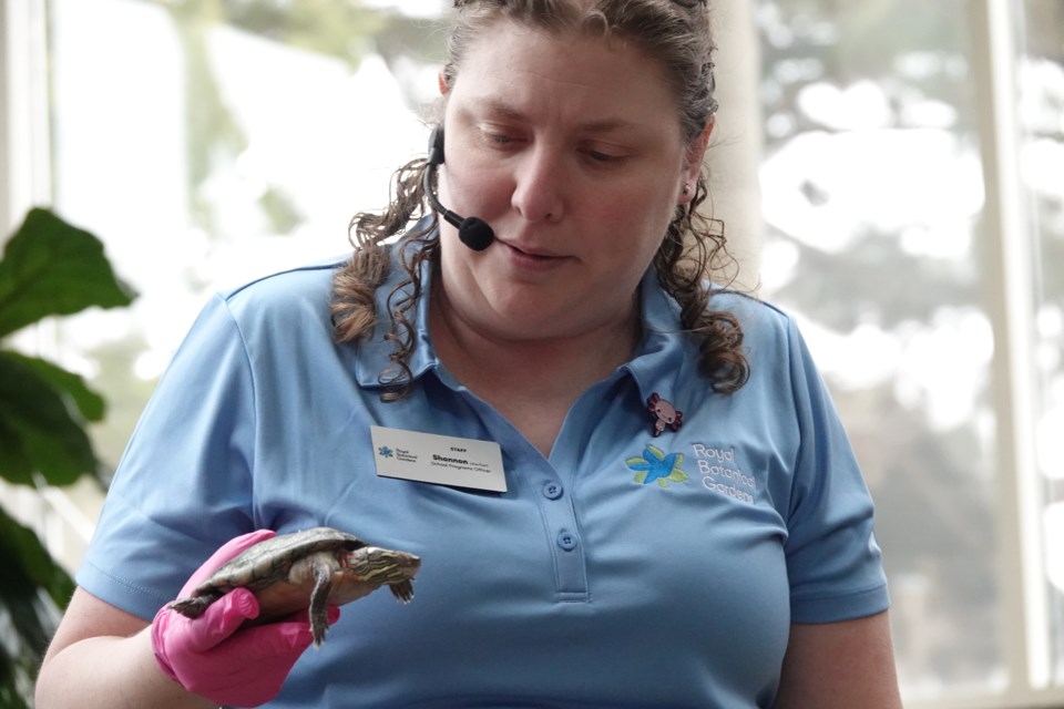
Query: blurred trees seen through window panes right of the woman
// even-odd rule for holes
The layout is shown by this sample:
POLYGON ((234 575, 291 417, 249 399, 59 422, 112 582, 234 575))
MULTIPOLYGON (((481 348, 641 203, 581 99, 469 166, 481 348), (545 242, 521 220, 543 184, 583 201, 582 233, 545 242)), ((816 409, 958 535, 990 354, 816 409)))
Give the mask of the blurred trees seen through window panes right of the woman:
MULTIPOLYGON (((1035 302, 1053 645, 1064 682, 1064 3, 1030 1, 1021 168, 1041 253, 1035 302), (1055 525, 1055 526, 1054 526, 1055 525)), ((998 555, 985 175, 970 0, 759 0, 763 295, 798 314, 878 508, 906 696, 993 696, 1009 676, 998 555)), ((1013 284, 1012 286, 1017 286, 1013 284)), ((1019 287, 1032 287, 1020 284, 1019 287)), ((1031 362, 1022 366, 1032 364, 1031 362)), ((1009 583, 1019 583, 1012 579, 1009 583)), ((928 706, 939 706, 929 703, 928 706)), ((988 705, 989 706, 989 705, 988 705)))

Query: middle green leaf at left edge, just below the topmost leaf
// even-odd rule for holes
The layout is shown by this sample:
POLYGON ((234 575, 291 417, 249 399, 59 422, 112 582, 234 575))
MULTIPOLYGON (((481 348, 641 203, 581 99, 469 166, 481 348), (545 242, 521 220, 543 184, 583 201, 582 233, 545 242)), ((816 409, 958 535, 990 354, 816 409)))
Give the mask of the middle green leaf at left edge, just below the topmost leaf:
MULTIPOLYGON (((32 484, 40 473, 52 485, 69 485, 93 472, 96 458, 78 417, 75 394, 57 389, 49 376, 72 383, 76 376, 44 362, 0 351, 0 474, 18 484, 32 484), (71 402, 68 405, 68 402, 71 402)), ((88 392, 84 384, 78 383, 88 392)), ((75 387, 76 388, 76 387, 75 387)), ((78 395, 83 395, 78 394, 78 395)))

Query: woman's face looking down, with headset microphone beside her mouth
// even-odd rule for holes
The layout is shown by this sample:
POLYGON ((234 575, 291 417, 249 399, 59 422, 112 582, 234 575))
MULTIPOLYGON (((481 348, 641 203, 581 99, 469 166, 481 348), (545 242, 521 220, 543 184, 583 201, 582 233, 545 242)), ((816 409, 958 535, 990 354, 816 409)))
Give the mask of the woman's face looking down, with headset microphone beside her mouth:
POLYGON ((441 219, 446 307, 503 339, 628 325, 705 150, 684 144, 664 70, 618 39, 502 20, 447 94, 441 201, 497 238, 473 251, 441 219))

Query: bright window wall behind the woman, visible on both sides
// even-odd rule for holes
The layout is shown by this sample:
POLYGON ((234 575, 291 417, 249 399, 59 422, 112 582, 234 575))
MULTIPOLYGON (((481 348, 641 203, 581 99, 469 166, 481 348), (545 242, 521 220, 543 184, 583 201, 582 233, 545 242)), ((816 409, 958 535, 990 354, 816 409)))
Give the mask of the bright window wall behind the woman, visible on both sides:
MULTIPOLYGON (((447 4, 7 3, 0 216, 51 199, 141 292, 40 337, 106 392, 109 464, 208 292, 346 250, 423 153, 447 4)), ((1064 705, 1064 3, 718 20, 715 202, 861 459, 907 706, 1064 705)))

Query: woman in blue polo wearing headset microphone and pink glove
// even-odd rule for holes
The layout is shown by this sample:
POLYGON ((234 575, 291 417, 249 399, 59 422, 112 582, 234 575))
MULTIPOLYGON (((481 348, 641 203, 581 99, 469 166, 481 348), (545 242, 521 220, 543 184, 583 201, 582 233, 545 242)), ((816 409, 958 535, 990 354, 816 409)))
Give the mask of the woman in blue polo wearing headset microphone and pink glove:
POLYGON ((808 352, 702 281, 705 2, 456 6, 431 164, 347 263, 216 298, 160 382, 38 706, 900 707, 808 352), (483 483, 395 467, 494 443, 483 483), (241 628, 243 592, 164 607, 318 525, 421 556, 413 603, 334 610, 311 653, 298 619, 241 628))

